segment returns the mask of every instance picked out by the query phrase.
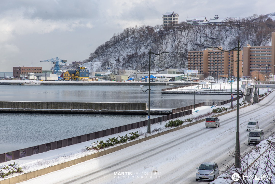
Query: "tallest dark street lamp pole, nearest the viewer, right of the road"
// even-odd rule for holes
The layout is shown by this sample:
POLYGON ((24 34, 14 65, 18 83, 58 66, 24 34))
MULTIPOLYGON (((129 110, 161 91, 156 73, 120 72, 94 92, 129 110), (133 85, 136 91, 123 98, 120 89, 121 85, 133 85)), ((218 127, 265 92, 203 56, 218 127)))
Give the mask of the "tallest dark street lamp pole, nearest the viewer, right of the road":
MULTIPOLYGON (((208 50, 213 50, 217 48, 223 52, 230 52, 237 50, 237 91, 239 91, 239 63, 240 63, 240 42, 238 41, 238 46, 231 50, 222 50, 219 47, 207 47, 208 50)), ((237 125, 236 125, 236 146, 235 146, 235 166, 240 168, 240 132, 239 132, 239 93, 237 93, 237 125)))

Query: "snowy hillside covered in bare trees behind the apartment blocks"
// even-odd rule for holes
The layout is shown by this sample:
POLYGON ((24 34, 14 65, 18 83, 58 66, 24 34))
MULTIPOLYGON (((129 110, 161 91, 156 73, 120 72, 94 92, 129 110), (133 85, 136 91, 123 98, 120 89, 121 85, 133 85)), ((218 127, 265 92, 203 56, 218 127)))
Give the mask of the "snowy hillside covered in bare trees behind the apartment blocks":
MULTIPOLYGON (((237 46, 265 46, 271 44, 271 32, 275 32, 275 13, 268 15, 252 15, 228 20, 225 25, 191 26, 185 22, 177 27, 163 29, 162 26, 136 26, 124 29, 119 34, 100 45, 90 54, 88 68, 107 66, 119 70, 148 71, 149 49, 153 53, 169 52, 168 55, 151 54, 151 70, 166 68, 187 69, 188 51, 201 51, 208 46, 222 46, 230 50, 237 46), (92 65, 92 66, 91 66, 92 65)), ((118 73, 118 72, 116 72, 118 73)))

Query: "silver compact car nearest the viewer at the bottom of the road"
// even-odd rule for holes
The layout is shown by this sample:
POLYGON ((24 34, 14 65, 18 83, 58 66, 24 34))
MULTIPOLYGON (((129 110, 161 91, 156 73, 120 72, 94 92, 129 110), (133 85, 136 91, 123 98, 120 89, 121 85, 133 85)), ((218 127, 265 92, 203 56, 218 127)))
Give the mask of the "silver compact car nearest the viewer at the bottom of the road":
POLYGON ((200 164, 200 167, 196 173, 196 181, 198 180, 215 180, 219 176, 218 164, 213 162, 204 162, 200 164))

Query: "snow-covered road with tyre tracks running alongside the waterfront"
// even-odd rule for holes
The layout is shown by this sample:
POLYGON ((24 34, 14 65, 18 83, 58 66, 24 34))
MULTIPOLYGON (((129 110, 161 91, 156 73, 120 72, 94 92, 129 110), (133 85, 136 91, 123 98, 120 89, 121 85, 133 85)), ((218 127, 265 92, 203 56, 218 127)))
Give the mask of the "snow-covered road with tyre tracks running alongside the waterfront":
MULTIPOLYGON (((241 154, 249 148, 245 145, 249 120, 259 121, 265 137, 269 136, 268 131, 275 131, 270 123, 275 112, 274 96, 275 93, 271 93, 260 103, 240 109, 241 154)), ((222 164, 234 162, 228 154, 229 150, 235 150, 236 111, 219 116, 219 119, 219 128, 206 129, 202 122, 22 184, 45 181, 60 184, 195 183, 196 167, 200 163, 216 162, 221 173, 224 169, 222 164), (125 172, 124 176, 119 175, 122 172, 125 172)))

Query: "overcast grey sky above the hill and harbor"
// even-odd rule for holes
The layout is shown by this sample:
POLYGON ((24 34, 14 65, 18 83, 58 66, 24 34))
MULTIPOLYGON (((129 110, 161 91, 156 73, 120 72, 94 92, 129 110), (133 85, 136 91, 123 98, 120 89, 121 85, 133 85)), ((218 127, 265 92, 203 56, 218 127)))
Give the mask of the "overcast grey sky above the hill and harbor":
POLYGON ((0 72, 19 65, 48 70, 53 64, 39 61, 56 57, 68 64, 87 59, 124 28, 161 25, 167 11, 181 22, 187 16, 245 18, 274 7, 270 0, 0 0, 0 72))

